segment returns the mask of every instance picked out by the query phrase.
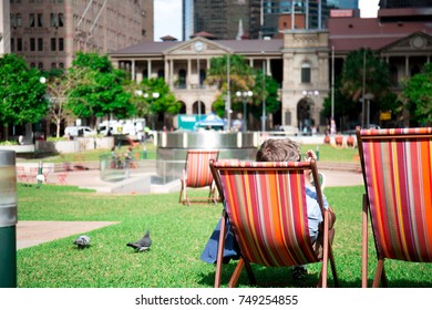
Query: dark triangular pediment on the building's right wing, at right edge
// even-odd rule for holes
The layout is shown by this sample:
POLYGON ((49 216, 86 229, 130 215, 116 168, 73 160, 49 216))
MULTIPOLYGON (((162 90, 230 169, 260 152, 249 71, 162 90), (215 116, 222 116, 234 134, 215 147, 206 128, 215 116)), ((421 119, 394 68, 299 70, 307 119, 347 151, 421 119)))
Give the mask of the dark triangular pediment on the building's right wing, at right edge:
POLYGON ((381 49, 382 52, 407 52, 432 50, 432 37, 415 32, 381 49))

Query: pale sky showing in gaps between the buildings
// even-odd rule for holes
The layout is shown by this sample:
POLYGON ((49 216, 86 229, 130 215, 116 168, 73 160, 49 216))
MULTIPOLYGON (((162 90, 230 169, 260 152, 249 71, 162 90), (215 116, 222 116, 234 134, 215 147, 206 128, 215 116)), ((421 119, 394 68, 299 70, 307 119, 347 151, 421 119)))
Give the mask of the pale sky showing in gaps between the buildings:
MULTIPOLYGON (((172 35, 182 40, 182 0, 154 0, 154 41, 172 35)), ((362 18, 377 17, 379 0, 359 0, 362 18)))

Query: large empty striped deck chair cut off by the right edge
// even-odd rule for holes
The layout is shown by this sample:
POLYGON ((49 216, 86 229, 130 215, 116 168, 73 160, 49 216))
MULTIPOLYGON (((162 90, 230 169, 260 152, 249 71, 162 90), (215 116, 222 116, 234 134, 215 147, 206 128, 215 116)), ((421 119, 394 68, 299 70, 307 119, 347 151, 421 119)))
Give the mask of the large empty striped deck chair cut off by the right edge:
POLYGON ((387 287, 384 260, 432 262, 432 128, 357 130, 366 194, 361 286, 368 287, 368 217, 387 287))

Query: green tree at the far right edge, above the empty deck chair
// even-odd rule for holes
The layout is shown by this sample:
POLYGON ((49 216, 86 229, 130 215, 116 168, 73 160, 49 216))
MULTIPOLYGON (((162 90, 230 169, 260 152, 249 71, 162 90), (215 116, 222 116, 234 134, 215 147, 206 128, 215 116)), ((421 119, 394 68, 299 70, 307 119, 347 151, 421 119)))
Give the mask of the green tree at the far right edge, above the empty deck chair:
POLYGON ((415 125, 432 124, 432 63, 428 62, 421 73, 403 83, 403 96, 408 101, 411 121, 415 125))

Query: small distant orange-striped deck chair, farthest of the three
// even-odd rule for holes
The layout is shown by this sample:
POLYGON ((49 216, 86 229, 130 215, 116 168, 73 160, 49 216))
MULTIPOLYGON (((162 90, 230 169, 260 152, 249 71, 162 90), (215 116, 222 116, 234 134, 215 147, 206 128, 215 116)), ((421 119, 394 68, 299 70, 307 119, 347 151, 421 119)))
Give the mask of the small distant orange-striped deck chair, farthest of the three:
POLYGON ((188 149, 186 154, 185 167, 181 177, 181 194, 178 202, 184 205, 192 203, 216 203, 213 175, 209 169, 209 159, 218 159, 219 151, 215 149, 188 149), (209 187, 207 197, 189 197, 187 188, 209 187))

